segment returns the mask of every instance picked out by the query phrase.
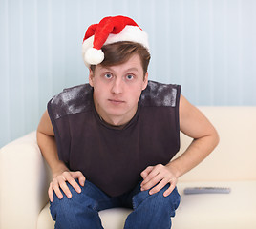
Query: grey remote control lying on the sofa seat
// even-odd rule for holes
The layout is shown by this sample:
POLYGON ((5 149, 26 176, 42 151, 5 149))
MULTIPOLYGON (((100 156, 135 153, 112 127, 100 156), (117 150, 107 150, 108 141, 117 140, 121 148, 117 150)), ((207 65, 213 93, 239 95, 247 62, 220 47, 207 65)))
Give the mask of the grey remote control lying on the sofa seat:
POLYGON ((184 194, 229 194, 230 192, 230 188, 224 187, 192 187, 184 189, 184 194))

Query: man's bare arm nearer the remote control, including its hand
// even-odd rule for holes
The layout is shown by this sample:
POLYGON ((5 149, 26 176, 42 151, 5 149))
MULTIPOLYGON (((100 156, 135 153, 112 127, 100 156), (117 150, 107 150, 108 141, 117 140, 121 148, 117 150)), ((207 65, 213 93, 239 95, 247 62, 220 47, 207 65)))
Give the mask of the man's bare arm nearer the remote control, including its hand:
POLYGON ((167 183, 169 189, 164 192, 168 196, 175 188, 178 178, 197 166, 208 156, 219 143, 219 135, 209 120, 182 95, 180 100, 180 129, 194 140, 186 151, 168 163, 147 167, 142 173, 141 190, 150 190, 150 194, 159 192, 167 183), (158 184, 158 185, 157 185, 158 184))

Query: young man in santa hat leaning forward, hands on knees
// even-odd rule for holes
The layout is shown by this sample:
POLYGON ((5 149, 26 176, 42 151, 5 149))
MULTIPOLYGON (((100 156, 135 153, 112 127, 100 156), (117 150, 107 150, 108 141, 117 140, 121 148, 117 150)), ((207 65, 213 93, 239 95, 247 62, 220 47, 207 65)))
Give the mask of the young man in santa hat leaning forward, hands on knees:
POLYGON ((179 85, 148 81, 147 35, 128 17, 107 17, 85 34, 89 84, 48 103, 37 141, 53 171, 55 228, 102 228, 98 211, 129 207, 125 228, 171 227, 177 180, 218 144, 216 130, 179 85), (194 138, 180 149, 180 131, 194 138))

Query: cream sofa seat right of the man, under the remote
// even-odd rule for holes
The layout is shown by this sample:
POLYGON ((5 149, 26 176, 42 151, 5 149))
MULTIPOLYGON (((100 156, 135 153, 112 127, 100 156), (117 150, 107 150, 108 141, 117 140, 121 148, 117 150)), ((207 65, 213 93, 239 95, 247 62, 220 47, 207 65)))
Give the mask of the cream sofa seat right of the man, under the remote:
POLYGON ((256 181, 181 182, 174 229, 255 229, 256 181), (230 194, 184 195, 185 187, 230 187, 230 194))

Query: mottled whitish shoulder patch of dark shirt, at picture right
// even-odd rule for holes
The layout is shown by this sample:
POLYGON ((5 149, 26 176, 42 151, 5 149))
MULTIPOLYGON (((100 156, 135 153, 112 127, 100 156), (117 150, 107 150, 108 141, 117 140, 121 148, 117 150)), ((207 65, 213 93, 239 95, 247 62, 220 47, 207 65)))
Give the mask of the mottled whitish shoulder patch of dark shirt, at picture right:
POLYGON ((148 81, 141 94, 143 106, 175 107, 180 99, 181 85, 148 81))

